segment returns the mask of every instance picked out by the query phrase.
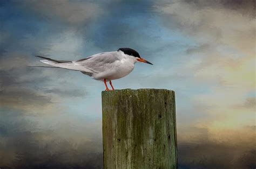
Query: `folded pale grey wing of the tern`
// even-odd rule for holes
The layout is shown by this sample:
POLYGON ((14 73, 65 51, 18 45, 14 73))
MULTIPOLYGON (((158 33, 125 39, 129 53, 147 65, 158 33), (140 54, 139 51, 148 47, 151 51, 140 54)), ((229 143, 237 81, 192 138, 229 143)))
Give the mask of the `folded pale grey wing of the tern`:
POLYGON ((113 62, 118 60, 118 54, 117 51, 115 51, 95 54, 91 57, 77 60, 75 63, 90 69, 90 71, 94 73, 101 73, 113 68, 113 62))

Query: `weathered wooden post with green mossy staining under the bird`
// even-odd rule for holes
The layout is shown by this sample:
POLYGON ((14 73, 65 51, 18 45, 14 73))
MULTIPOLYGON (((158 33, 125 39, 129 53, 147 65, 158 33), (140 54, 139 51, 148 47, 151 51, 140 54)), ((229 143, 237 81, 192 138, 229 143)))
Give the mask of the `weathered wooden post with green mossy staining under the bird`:
POLYGON ((104 168, 178 168, 174 91, 102 92, 104 168))

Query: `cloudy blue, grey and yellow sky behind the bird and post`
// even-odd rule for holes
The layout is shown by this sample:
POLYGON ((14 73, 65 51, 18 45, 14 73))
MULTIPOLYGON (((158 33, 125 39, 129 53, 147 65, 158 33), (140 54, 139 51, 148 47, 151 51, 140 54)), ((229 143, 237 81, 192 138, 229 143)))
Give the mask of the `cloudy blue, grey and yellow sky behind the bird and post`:
POLYGON ((255 2, 0 1, 0 167, 102 168, 104 83, 43 66, 131 47, 176 92, 179 168, 255 168, 255 2))

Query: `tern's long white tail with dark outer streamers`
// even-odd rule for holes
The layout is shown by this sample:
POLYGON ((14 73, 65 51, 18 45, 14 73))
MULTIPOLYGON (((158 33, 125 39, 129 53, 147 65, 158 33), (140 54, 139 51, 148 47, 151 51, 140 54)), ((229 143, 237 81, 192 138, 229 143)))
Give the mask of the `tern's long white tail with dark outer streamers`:
MULTIPOLYGON (((55 68, 64 68, 64 69, 70 69, 73 71, 83 71, 84 67, 80 65, 74 64, 72 61, 66 61, 66 60, 55 60, 51 58, 36 56, 38 58, 42 58, 43 60, 40 60, 44 64, 54 66, 55 68)), ((46 66, 45 66, 46 67, 46 66)), ((48 66, 47 66, 48 67, 48 66)), ((51 67, 53 68, 53 67, 51 67)))

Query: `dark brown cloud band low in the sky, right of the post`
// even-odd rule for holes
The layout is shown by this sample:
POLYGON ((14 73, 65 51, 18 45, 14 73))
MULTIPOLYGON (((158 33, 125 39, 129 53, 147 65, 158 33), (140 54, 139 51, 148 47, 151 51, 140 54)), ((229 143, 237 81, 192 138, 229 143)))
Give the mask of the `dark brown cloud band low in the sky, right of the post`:
POLYGON ((179 168, 255 168, 256 149, 214 142, 178 142, 179 168))

